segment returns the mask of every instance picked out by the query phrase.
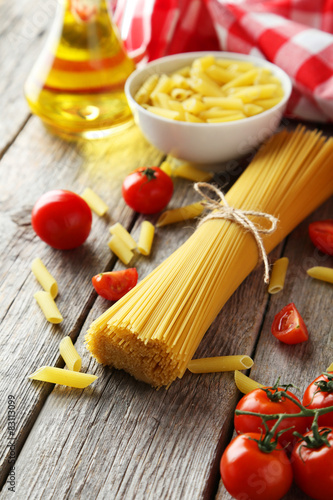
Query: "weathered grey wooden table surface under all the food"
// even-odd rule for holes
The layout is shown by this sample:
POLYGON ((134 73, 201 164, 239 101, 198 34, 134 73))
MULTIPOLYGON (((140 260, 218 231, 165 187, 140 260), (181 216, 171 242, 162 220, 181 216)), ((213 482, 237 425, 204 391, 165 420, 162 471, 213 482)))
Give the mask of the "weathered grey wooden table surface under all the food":
MULTIPOLYGON (((29 114, 22 87, 45 40, 55 0, 2 2, 1 16, 1 498, 25 499, 173 499, 230 498, 220 482, 219 460, 233 434, 233 412, 240 393, 232 373, 187 372, 169 390, 156 391, 124 372, 91 359, 84 347, 91 321, 108 306, 96 295, 91 277, 121 269, 107 246, 108 228, 121 222, 138 234, 141 217, 125 206, 121 183, 131 170, 158 165, 163 156, 132 126, 96 143, 67 143, 51 136, 29 114), (87 242, 73 251, 44 244, 30 224, 37 198, 54 188, 82 193, 94 189, 110 206, 94 216, 87 242), (42 258, 59 283, 60 325, 46 322, 33 299, 40 287, 30 271, 42 258), (42 365, 63 366, 58 345, 70 335, 83 357, 83 370, 98 375, 86 390, 32 382, 42 365), (8 431, 8 398, 15 398, 15 438, 8 431), (15 464, 15 493, 7 475, 15 464)), ((326 132, 328 132, 326 127, 326 132)), ((231 184, 237 164, 215 180, 231 184)), ((171 206, 196 199, 190 183, 175 180, 171 206)), ((332 200, 305 220, 271 255, 290 260, 285 289, 269 296, 262 268, 254 271, 225 305, 203 339, 196 357, 247 353, 250 376, 273 384, 292 381, 299 396, 333 361, 333 287, 312 280, 306 269, 332 265, 312 246, 310 221, 332 217, 332 200), (310 332, 296 346, 276 341, 274 315, 295 302, 310 332)), ((156 217, 149 220, 156 221, 156 217)), ((176 249, 193 225, 160 228, 152 255, 133 263, 140 279, 176 249)), ((294 487, 289 500, 305 498, 294 487)))

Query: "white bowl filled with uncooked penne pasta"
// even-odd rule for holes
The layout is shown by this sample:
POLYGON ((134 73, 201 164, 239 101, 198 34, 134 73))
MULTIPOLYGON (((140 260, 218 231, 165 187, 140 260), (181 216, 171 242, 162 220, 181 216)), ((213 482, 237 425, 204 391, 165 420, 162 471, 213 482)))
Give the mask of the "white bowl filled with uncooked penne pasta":
POLYGON ((153 146, 217 170, 276 131, 291 89, 276 65, 222 51, 157 59, 125 85, 135 121, 153 146))

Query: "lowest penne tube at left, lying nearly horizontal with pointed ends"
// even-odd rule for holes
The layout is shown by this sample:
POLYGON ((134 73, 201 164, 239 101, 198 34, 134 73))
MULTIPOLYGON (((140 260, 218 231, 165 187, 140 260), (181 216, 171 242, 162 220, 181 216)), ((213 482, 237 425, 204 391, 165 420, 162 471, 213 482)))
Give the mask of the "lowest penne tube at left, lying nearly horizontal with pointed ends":
POLYGON ((96 375, 90 373, 74 372, 54 366, 42 366, 29 375, 32 380, 50 382, 51 384, 67 385, 77 389, 84 389, 97 379, 96 375))

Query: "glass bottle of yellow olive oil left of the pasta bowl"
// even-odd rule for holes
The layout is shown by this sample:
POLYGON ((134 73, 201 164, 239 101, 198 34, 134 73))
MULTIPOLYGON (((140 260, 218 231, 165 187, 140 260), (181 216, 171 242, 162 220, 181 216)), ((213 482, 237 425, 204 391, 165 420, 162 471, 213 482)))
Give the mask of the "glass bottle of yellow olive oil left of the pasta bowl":
POLYGON ((53 132, 100 138, 132 122, 124 84, 134 69, 105 0, 61 0, 25 95, 53 132))

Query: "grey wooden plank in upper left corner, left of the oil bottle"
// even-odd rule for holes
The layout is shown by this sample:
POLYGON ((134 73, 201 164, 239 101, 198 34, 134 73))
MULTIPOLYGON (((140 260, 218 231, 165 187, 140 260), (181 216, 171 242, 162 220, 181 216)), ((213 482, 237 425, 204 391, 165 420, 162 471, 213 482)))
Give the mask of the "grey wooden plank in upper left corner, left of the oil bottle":
POLYGON ((56 0, 0 3, 0 156, 30 117, 23 86, 54 19, 56 0))

